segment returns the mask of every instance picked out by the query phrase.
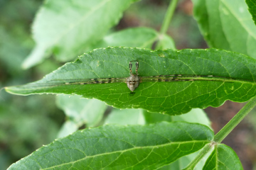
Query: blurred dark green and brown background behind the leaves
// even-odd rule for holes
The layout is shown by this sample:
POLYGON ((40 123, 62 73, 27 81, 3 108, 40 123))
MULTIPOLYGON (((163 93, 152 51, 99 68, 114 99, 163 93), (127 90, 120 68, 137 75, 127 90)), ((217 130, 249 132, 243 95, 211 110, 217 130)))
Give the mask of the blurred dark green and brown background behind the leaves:
MULTIPOLYGON (((42 0, 0 0, 0 88, 36 81, 63 64, 50 57, 36 67, 21 69, 21 63, 35 45, 31 38, 31 23, 41 4, 42 0)), ((168 5, 169 0, 142 0, 132 4, 112 30, 138 26, 160 30, 168 5)), ((207 47, 193 19, 190 0, 178 2, 168 34, 177 49, 207 47)), ((207 108, 215 132, 242 105, 228 101, 220 108, 207 108)), ((256 162, 256 114, 249 116, 223 141, 237 152, 244 169, 252 169, 256 162)), ((6 169, 52 142, 65 119, 63 111, 55 105, 53 95, 14 96, 0 91, 0 169, 6 169)))

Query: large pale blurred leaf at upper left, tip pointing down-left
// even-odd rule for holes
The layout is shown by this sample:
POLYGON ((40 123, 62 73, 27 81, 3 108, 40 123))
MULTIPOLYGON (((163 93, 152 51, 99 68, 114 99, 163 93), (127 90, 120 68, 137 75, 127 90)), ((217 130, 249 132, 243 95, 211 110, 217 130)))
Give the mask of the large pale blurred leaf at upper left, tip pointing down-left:
POLYGON ((72 60, 101 40, 134 1, 45 1, 32 26, 36 47, 23 67, 38 64, 51 52, 60 61, 72 60))

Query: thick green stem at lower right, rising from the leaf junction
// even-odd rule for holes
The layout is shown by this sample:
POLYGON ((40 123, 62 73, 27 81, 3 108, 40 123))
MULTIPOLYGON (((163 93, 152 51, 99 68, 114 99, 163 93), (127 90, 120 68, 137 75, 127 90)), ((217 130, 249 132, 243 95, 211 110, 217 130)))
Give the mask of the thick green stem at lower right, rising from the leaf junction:
POLYGON ((251 98, 250 101, 215 135, 213 141, 220 143, 224 138, 245 118, 245 116, 252 111, 256 106, 256 97, 251 98))

